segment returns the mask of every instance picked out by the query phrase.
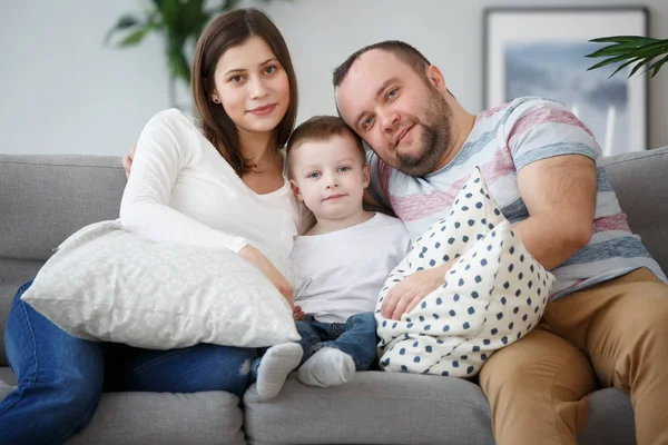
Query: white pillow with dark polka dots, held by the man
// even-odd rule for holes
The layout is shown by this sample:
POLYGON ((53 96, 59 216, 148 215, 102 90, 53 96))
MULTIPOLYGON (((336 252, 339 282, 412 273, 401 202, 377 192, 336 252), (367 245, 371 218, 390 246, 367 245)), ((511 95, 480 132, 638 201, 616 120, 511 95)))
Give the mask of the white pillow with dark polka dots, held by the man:
POLYGON ((375 317, 381 368, 472 377, 484 362, 540 320, 554 277, 514 236, 480 170, 455 197, 446 219, 418 238, 383 287, 375 317), (380 307, 406 276, 456 259, 441 287, 400 320, 380 307))

